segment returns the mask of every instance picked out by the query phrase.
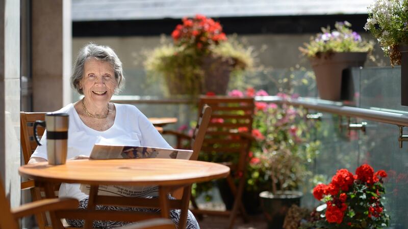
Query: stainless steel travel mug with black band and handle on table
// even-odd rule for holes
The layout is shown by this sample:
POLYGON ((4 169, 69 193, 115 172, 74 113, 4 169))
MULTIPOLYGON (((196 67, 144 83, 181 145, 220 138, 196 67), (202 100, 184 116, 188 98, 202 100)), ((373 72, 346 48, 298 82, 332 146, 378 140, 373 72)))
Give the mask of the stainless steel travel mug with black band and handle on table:
POLYGON ((37 120, 34 123, 34 138, 41 146, 37 135, 37 126, 47 130, 48 164, 65 164, 68 149, 68 120, 67 113, 46 113, 45 122, 37 120))

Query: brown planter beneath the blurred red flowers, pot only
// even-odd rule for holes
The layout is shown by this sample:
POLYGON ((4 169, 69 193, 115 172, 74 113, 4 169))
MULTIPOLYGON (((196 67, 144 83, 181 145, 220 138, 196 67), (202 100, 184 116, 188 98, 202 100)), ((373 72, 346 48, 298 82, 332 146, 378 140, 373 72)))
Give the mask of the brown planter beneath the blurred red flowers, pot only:
POLYGON ((202 79, 200 75, 185 76, 176 72, 175 78, 166 78, 170 95, 199 95, 214 92, 225 95, 230 81, 230 74, 234 68, 233 59, 214 58, 206 56, 201 60, 202 79))

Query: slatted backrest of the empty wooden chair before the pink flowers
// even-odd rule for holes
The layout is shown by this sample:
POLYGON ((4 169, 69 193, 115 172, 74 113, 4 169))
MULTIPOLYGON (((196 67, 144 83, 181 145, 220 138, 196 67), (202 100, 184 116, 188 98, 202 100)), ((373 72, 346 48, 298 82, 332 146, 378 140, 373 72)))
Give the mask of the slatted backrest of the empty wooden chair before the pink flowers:
POLYGON ((212 160, 217 154, 223 154, 224 162, 231 162, 237 157, 234 154, 239 154, 237 164, 242 169, 251 144, 251 140, 242 137, 242 133, 252 132, 254 99, 202 96, 199 107, 203 104, 212 108, 212 116, 201 152, 207 154, 208 160, 212 160))

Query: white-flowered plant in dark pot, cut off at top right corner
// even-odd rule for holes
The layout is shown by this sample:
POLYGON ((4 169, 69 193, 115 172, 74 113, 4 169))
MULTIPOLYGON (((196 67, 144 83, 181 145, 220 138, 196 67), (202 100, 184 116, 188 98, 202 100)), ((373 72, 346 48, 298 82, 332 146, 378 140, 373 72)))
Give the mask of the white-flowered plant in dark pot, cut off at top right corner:
POLYGON ((408 106, 408 1, 375 1, 364 28, 390 57, 391 66, 401 65, 401 105, 408 106))

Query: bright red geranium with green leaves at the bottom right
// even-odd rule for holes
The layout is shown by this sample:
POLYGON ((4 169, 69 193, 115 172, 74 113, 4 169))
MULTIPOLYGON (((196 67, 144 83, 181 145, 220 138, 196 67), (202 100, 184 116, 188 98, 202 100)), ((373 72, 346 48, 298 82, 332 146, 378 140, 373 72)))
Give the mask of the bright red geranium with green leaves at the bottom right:
POLYGON ((385 199, 384 170, 363 164, 355 170, 355 175, 347 169, 339 169, 331 182, 318 184, 313 195, 324 202, 317 208, 321 219, 317 228, 385 228, 390 217, 382 201, 385 199))

